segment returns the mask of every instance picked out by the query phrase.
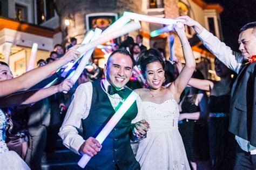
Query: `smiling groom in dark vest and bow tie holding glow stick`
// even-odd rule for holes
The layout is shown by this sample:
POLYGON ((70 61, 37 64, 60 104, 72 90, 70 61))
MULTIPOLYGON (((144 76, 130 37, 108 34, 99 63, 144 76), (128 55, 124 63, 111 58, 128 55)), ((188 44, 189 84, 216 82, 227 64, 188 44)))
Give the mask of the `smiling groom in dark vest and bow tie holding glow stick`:
POLYGON ((92 157, 86 169, 140 169, 130 145, 130 139, 143 138, 149 128, 145 120, 131 124, 141 112, 139 100, 132 104, 102 145, 95 139, 120 102, 132 92, 124 87, 132 67, 130 53, 125 49, 116 50, 105 65, 106 79, 81 84, 74 94, 59 135, 73 152, 92 157), (81 122, 83 137, 77 131, 81 122))

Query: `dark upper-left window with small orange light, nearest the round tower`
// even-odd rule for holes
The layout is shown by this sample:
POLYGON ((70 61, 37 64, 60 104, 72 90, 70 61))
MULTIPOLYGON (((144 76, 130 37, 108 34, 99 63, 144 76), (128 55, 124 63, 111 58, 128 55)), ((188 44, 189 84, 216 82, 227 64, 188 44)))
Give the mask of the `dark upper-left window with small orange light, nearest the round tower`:
POLYGON ((36 0, 37 24, 42 24, 55 16, 52 0, 36 0))

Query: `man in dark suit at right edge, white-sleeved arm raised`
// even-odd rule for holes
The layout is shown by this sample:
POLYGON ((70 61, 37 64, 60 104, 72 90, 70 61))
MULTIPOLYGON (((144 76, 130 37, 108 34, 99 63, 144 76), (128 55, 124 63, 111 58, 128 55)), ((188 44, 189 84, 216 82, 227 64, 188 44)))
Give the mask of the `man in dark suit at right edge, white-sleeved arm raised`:
POLYGON ((248 59, 256 55, 256 22, 240 29, 239 52, 232 51, 198 22, 184 16, 184 24, 193 26, 203 44, 221 62, 238 73, 231 91, 230 127, 238 146, 234 169, 256 169, 256 62, 248 59))

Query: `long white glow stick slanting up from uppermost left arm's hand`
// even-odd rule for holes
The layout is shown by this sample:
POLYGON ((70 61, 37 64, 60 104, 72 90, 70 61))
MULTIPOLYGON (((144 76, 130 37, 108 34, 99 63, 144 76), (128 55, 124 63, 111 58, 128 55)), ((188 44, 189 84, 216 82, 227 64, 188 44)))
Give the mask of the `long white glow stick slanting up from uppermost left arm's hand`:
POLYGON ((139 22, 130 22, 122 27, 122 29, 114 30, 111 33, 108 33, 107 35, 100 36, 98 39, 93 40, 93 42, 90 42, 84 46, 79 47, 76 49, 81 53, 81 55, 84 55, 84 53, 90 49, 93 49, 99 44, 103 44, 108 42, 110 39, 115 39, 117 37, 123 36, 126 33, 129 33, 131 31, 135 31, 140 29, 140 24, 139 22))

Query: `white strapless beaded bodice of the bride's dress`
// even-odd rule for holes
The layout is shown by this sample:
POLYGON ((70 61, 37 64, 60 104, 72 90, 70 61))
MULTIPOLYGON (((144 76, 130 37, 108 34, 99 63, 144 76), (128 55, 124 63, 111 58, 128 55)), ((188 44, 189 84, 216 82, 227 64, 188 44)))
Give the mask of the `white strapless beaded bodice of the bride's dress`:
POLYGON ((174 99, 156 104, 143 101, 142 117, 150 124, 150 130, 170 130, 178 128, 179 108, 174 99))

